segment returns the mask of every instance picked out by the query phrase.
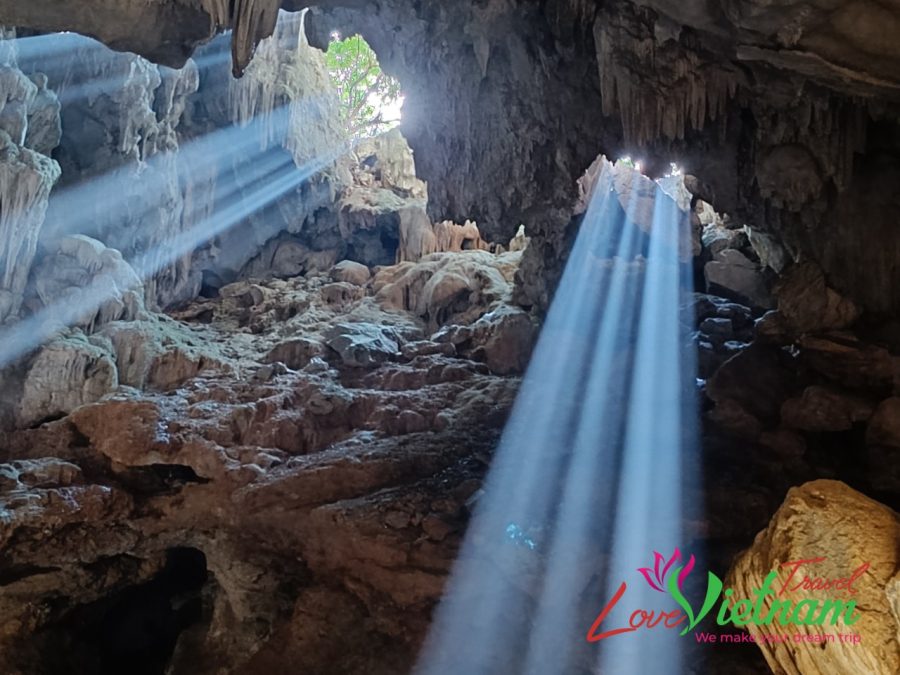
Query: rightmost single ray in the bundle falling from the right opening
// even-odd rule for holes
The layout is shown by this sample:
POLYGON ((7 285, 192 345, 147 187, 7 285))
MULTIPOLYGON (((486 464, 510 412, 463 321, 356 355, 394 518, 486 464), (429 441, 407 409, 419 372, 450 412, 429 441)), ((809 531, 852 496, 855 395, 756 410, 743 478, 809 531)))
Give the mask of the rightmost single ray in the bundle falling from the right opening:
MULTIPOLYGON (((661 194, 661 189, 659 194, 661 194)), ((693 352, 682 324, 680 307, 690 290, 689 264, 679 261, 689 224, 669 198, 655 201, 653 229, 644 271, 639 326, 634 334, 634 361, 625 416, 618 495, 613 512, 613 538, 605 597, 622 580, 637 579, 629 606, 655 609, 671 599, 636 577, 637 567, 652 567, 653 552, 666 557, 684 549, 682 523, 685 492, 695 453, 691 387, 696 381, 693 352), (674 236, 673 236, 674 235, 674 236)), ((680 564, 684 564, 681 561, 680 564)), ((698 572, 702 574, 702 572, 698 572)), ((623 620, 626 611, 620 610, 623 620)), ((684 667, 677 631, 637 631, 611 641, 601 650, 601 671, 626 666, 629 673, 678 673, 684 667)))

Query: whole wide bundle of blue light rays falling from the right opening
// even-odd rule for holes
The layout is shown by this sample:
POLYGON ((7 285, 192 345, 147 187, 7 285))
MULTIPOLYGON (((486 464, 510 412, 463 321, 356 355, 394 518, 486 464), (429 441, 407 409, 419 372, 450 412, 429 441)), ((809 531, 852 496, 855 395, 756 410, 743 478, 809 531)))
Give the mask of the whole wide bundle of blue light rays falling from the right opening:
POLYGON ((637 568, 652 566, 654 550, 684 545, 682 464, 694 422, 679 315, 690 280, 679 259, 685 215, 636 172, 631 180, 642 182, 623 209, 608 174, 594 189, 418 675, 594 672, 601 656, 604 673, 680 672, 678 643, 658 632, 602 649, 585 640, 608 588, 623 580, 634 602, 611 617, 616 626, 638 607, 675 608, 639 588, 637 568), (632 222, 648 185, 649 233, 632 222))

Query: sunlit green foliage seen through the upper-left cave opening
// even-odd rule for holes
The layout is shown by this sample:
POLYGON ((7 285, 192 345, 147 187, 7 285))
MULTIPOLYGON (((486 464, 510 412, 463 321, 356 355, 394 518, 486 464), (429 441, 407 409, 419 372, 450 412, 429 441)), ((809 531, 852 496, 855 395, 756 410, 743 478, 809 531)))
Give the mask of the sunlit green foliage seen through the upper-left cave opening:
POLYGON ((332 37, 325 60, 348 134, 374 136, 394 126, 395 120, 385 119, 385 109, 400 98, 400 83, 381 70, 375 52, 361 36, 332 37))

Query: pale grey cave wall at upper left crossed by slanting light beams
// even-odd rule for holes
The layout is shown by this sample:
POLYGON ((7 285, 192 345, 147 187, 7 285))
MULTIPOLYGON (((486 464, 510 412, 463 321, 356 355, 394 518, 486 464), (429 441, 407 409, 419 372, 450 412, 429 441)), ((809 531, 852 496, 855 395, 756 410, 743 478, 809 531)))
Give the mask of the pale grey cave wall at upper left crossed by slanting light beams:
MULTIPOLYGON (((21 197, 28 209, 12 208, 11 192, 10 207, 3 209, 10 222, 20 212, 30 218, 22 228, 28 230, 27 246, 18 258, 15 242, 8 245, 21 277, 15 284, 10 277, 8 285, 16 286, 13 295, 19 300, 8 314, 18 311, 23 294, 29 312, 43 307, 47 293, 41 285, 63 291, 76 283, 44 266, 30 290, 24 289, 31 258, 40 262, 55 255, 72 235, 98 239, 136 265, 142 261, 139 266, 149 268, 141 270, 147 303, 162 308, 196 297, 210 279, 220 286, 248 271, 264 274, 268 270, 259 265, 245 268, 282 233, 305 227, 307 243, 323 249, 343 245, 331 216, 338 193, 350 181, 346 162, 339 165, 331 157, 343 142, 336 98, 323 55, 300 39, 301 16, 283 14, 283 19, 276 34, 259 45, 257 60, 240 80, 231 74, 226 36, 177 70, 74 34, 23 41, 19 66, 40 87, 9 67, 6 118, 13 125, 16 106, 23 120, 29 115, 28 138, 21 142, 40 145, 46 155, 52 152, 56 161, 45 162, 44 173, 54 169, 50 178, 59 181, 52 194, 48 179, 42 196, 21 197), (239 142, 246 152, 222 152, 239 142), (258 168, 263 165, 268 174, 258 168), (276 166, 280 173, 272 169, 276 166), (292 166, 297 171, 310 167, 308 180, 284 194, 273 193, 260 210, 218 227, 215 237, 191 234, 217 227, 216 209, 241 198, 259 202, 259 179, 289 173, 292 166), (29 199, 37 200, 36 208, 30 208, 29 199), (327 226, 319 230, 328 231, 329 238, 316 238, 317 216, 325 218, 327 226), (197 239, 195 245, 178 243, 191 238, 197 239), (60 278, 43 278, 54 274, 60 278)), ((17 43, 8 44, 14 53, 17 43)), ((26 133, 24 121, 16 124, 26 133)), ((21 173, 40 156, 30 149, 19 154, 15 165, 4 163, 10 171, 21 173)), ((7 182, 14 180, 23 194, 37 189, 25 178, 7 182)))

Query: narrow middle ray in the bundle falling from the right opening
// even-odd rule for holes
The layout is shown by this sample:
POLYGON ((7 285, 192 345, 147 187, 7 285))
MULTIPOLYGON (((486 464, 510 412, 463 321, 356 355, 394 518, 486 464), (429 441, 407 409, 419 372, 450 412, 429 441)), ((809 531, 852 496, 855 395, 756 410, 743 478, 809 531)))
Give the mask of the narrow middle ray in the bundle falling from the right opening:
MULTIPOLYGON (((631 191, 626 219, 637 208, 637 194, 637 190, 631 191)), ((598 551, 609 545, 609 532, 605 522, 597 522, 597 516, 616 507, 612 499, 599 500, 598 493, 602 490, 612 496, 617 489, 609 476, 615 475, 621 461, 616 448, 621 443, 622 410, 611 399, 624 396, 629 390, 628 369, 622 366, 630 360, 644 266, 635 260, 642 238, 638 228, 615 227, 616 223, 608 223, 607 227, 610 225, 621 233, 620 242, 615 256, 605 263, 606 274, 598 289, 604 293, 602 316, 592 327, 593 353, 586 363, 580 403, 583 411, 592 411, 593 421, 577 423, 572 439, 572 457, 563 482, 565 488, 559 496, 554 539, 535 613, 539 637, 531 641, 525 661, 529 675, 552 672, 549 669, 560 662, 559 645, 571 643, 585 632, 585 617, 572 611, 582 602, 585 588, 571 580, 585 580, 585 565, 598 563, 598 551)), ((576 666, 570 663, 559 672, 576 666)))

